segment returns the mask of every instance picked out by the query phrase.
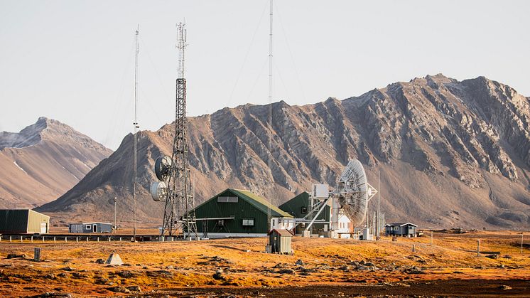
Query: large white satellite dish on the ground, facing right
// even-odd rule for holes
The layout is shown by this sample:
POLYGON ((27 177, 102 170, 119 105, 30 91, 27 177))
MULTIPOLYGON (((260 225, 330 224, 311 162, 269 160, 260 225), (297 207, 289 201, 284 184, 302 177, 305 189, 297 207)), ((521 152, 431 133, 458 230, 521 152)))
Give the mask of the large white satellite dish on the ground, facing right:
POLYGON ((367 213, 368 201, 377 190, 369 185, 364 167, 357 159, 352 159, 342 171, 337 182, 336 193, 345 215, 354 225, 363 223, 367 213))

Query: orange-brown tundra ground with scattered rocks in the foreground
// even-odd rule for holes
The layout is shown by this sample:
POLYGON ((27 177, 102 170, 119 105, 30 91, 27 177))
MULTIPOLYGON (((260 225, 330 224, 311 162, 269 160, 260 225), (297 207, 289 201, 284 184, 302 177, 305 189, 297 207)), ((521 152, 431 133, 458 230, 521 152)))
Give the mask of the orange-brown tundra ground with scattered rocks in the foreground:
POLYGON ((480 294, 471 290, 477 287, 485 294, 517 296, 530 289, 530 249, 526 246, 521 254, 520 239, 520 233, 505 231, 434 233, 433 245, 430 237, 397 242, 385 237, 377 242, 296 237, 295 255, 264 253, 266 238, 166 243, 9 243, 4 239, 0 296, 200 297, 234 292, 303 297, 320 292, 421 294, 437 287, 441 294, 480 294), (481 239, 481 250, 500 255, 477 257, 477 239, 481 239), (37 247, 42 248, 42 262, 31 260, 37 247), (113 251, 124 265, 97 262, 113 251), (26 256, 9 258, 10 254, 26 256))

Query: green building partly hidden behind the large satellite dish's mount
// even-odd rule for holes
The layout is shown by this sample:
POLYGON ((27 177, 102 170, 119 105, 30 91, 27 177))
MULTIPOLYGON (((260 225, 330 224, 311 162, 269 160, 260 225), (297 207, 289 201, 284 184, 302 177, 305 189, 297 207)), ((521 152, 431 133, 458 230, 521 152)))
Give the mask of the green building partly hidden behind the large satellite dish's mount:
MULTIPOLYGON (((310 211, 310 195, 307 191, 300 193, 298 196, 291 198, 291 200, 286 201, 281 204, 279 208, 286 213, 291 214, 294 218, 304 218, 308 215, 310 211)), ((330 221, 331 217, 331 207, 325 206, 324 210, 318 215, 317 220, 330 221)), ((303 230, 305 230, 305 225, 307 223, 301 223, 296 226, 295 234, 300 235, 303 230)), ((328 223, 313 223, 311 226, 311 234, 318 234, 320 231, 328 231, 328 223)))

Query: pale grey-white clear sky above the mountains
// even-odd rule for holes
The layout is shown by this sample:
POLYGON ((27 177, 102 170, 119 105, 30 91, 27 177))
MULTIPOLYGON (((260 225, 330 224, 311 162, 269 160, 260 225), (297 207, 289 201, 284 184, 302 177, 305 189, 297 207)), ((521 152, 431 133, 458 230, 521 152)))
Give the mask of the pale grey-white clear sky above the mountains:
MULTIPOLYGON (((530 1, 274 1, 273 101, 345 99, 443 73, 530 96, 530 1)), ((188 30, 188 115, 268 102, 269 1, 0 0, 0 131, 40 116, 110 149, 172 122, 188 30)))

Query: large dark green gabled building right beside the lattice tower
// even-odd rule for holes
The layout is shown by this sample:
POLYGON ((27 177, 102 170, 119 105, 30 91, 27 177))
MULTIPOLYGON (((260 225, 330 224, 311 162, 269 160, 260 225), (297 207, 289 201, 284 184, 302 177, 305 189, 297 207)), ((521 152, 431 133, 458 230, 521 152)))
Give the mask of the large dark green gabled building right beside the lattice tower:
POLYGON ((204 238, 266 236, 269 210, 274 227, 288 228, 281 222, 293 216, 250 191, 227 188, 195 207, 197 229, 204 238))

